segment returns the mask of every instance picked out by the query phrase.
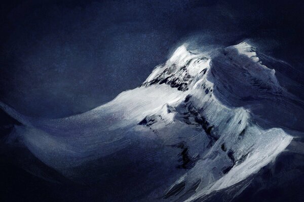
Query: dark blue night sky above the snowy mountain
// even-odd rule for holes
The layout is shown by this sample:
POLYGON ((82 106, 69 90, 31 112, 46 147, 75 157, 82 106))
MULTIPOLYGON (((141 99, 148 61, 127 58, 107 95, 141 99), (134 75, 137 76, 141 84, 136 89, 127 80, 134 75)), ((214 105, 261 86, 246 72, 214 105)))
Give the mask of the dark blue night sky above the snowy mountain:
POLYGON ((10 1, 0 12, 0 99, 29 116, 85 112, 191 40, 250 38, 300 75, 303 10, 302 1, 10 1))

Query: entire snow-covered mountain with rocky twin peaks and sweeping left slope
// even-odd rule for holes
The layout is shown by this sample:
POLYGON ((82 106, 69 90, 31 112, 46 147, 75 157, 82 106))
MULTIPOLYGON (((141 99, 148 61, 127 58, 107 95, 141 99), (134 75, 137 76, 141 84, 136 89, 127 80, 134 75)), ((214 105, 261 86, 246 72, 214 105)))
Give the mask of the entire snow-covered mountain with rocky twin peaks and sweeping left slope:
POLYGON ((203 201, 287 147, 292 136, 274 126, 296 120, 259 112, 283 103, 288 114, 290 99, 242 42, 208 53, 181 45, 139 87, 84 114, 35 120, 1 106, 22 123, 7 143, 74 182, 119 187, 131 201, 203 201))

